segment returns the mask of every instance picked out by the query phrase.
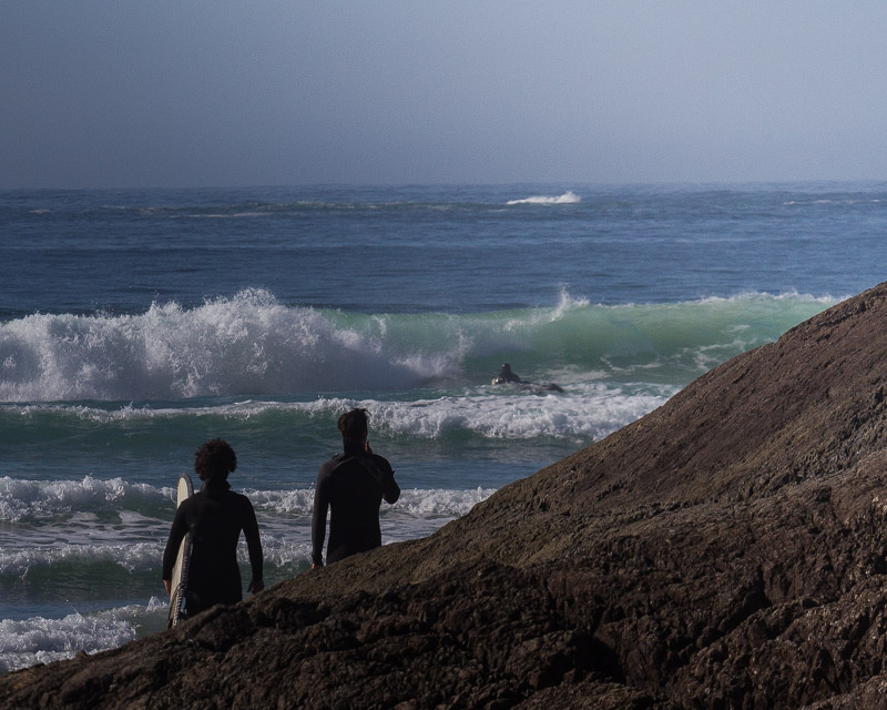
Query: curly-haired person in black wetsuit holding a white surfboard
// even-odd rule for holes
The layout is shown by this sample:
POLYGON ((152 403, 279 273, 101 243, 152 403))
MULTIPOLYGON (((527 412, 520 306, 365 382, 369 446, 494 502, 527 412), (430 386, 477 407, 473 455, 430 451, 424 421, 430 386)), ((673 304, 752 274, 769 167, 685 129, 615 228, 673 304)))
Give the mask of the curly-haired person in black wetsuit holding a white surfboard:
POLYGON ((223 439, 213 439, 194 455, 194 473, 203 487, 182 501, 175 510, 170 538, 163 551, 163 586, 172 594, 172 572, 179 546, 191 532, 191 566, 185 595, 185 611, 194 616, 217 604, 243 599, 241 569, 237 566, 237 540, 243 530, 249 550, 253 578, 248 591, 265 588, 262 579, 263 555, 253 504, 234 493, 228 474, 237 467, 234 449, 223 439))

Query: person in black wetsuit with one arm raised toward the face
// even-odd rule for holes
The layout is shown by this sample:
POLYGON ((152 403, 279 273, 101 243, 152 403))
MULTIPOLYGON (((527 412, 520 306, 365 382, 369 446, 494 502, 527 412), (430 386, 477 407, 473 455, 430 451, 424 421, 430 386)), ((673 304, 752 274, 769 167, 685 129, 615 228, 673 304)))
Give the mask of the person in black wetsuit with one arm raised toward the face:
POLYGON ((312 569, 324 566, 327 510, 329 544, 326 564, 381 546, 379 507, 396 503, 400 487, 386 458, 373 453, 367 440, 368 413, 357 408, 338 419, 344 452, 317 473, 312 520, 312 569))

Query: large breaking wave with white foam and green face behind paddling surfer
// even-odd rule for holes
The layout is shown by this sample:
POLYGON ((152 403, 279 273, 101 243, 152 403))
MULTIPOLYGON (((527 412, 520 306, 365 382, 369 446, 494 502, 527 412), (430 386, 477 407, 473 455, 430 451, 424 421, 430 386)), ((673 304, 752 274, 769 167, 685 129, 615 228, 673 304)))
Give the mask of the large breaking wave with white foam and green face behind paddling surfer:
POLYGON ((271 293, 137 315, 32 314, 0 325, 0 402, 180 400, 394 392, 489 382, 500 362, 533 379, 683 385, 833 303, 750 294, 602 306, 361 314, 271 293))

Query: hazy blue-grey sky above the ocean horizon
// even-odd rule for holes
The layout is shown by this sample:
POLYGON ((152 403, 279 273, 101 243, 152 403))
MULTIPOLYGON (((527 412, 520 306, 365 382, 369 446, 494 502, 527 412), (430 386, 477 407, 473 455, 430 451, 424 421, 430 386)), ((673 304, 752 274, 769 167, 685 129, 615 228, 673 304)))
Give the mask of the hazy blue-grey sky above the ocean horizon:
POLYGON ((0 189, 887 180, 883 0, 3 0, 0 189))

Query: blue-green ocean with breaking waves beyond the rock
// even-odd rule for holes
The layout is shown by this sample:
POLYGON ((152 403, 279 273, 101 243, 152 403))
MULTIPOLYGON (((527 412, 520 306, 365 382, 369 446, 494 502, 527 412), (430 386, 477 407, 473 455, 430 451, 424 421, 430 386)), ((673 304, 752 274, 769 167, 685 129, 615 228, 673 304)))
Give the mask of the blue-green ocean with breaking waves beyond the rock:
POLYGON ((164 628, 205 440, 272 585, 347 408, 384 542, 429 535, 883 281, 885 225, 887 183, 0 192, 0 672, 164 628))

